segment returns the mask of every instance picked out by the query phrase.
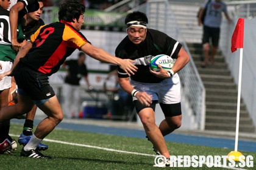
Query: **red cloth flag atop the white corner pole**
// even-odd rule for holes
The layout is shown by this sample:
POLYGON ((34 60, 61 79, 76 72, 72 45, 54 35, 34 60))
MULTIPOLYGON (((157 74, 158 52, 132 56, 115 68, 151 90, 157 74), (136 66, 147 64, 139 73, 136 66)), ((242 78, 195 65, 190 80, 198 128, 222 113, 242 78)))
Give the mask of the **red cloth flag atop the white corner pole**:
POLYGON ((231 39, 231 52, 235 52, 238 48, 244 47, 244 18, 239 18, 235 26, 235 31, 231 39))

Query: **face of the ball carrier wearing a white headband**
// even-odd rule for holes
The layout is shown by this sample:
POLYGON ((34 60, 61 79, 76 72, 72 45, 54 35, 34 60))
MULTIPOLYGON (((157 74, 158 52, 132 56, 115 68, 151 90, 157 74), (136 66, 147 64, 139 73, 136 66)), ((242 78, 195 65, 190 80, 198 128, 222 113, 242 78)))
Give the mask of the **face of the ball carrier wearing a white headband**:
POLYGON ((147 29, 131 26, 127 29, 128 37, 134 44, 140 44, 146 38, 147 29))

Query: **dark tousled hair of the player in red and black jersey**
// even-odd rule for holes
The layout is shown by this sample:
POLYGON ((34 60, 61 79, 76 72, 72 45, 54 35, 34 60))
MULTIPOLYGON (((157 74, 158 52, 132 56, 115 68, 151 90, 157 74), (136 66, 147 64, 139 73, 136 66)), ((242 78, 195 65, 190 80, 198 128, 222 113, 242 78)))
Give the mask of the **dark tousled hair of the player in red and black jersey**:
POLYGON ((59 21, 73 22, 85 13, 85 5, 79 0, 63 0, 59 7, 59 21))

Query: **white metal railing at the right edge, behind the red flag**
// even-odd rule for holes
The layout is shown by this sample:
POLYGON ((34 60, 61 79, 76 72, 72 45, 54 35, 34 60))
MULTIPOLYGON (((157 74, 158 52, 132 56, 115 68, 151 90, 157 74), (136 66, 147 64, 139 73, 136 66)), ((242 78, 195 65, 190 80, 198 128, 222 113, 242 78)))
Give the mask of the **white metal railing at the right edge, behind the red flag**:
POLYGON ((235 83, 238 83, 238 67, 239 67, 239 52, 232 53, 231 38, 233 30, 238 18, 244 18, 244 50, 243 50, 243 77, 241 85, 241 97, 246 104, 247 110, 256 125, 256 69, 254 66, 255 58, 255 14, 256 14, 256 1, 232 1, 227 2, 227 6, 230 9, 229 13, 232 13, 232 24, 229 24, 226 20, 221 25, 221 39, 219 47, 225 56, 226 62, 229 64, 229 69, 234 77, 235 83))

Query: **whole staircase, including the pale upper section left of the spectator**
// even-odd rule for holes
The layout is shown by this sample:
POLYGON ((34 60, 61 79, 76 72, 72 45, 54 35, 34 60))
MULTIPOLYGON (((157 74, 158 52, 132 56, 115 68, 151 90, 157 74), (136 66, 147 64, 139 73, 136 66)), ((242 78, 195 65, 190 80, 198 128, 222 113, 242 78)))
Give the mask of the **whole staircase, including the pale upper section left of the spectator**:
MULTIPOLYGON (((233 131, 236 129, 236 109, 238 90, 225 63, 224 56, 218 51, 215 64, 201 67, 202 26, 197 24, 197 11, 200 4, 170 2, 171 10, 187 42, 191 56, 205 86, 205 130, 233 131)), ((241 99, 240 132, 255 132, 254 124, 249 117, 246 106, 241 99)))

